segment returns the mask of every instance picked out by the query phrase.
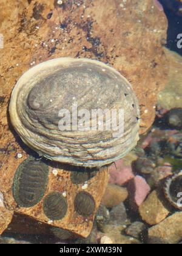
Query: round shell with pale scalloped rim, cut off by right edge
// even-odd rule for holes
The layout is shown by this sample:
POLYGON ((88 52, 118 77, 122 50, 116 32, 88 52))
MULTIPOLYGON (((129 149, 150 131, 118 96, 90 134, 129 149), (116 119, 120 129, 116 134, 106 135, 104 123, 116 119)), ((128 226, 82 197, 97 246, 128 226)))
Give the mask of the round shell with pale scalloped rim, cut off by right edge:
POLYGON ((182 171, 166 180, 164 194, 170 204, 182 210, 182 171))

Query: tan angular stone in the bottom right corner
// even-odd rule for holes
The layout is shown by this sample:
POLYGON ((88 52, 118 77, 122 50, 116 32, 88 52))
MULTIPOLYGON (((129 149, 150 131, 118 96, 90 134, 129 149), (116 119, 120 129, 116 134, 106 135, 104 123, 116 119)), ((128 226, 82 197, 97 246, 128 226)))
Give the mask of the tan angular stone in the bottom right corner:
POLYGON ((164 241, 169 244, 177 244, 182 238, 182 212, 165 219, 160 224, 149 229, 149 243, 154 240, 164 241))

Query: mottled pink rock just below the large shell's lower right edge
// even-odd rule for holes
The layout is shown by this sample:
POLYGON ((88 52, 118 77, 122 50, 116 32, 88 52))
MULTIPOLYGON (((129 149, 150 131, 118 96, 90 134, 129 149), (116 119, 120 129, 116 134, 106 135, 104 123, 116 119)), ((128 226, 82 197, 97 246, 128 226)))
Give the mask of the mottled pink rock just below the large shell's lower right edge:
POLYGON ((109 174, 109 183, 117 184, 120 186, 126 184, 129 182, 129 180, 135 177, 131 166, 124 165, 123 160, 121 159, 117 160, 109 167, 109 174))

